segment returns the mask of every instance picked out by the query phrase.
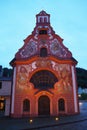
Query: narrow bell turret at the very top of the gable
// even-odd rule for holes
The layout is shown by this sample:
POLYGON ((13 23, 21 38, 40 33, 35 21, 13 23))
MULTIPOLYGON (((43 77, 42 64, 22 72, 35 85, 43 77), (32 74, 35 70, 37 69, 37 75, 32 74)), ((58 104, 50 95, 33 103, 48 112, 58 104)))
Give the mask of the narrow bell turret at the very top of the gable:
POLYGON ((36 27, 32 34, 35 36, 35 39, 38 36, 49 36, 50 39, 53 38, 52 34, 55 34, 55 31, 50 25, 50 14, 47 14, 45 11, 41 11, 36 15, 36 27))

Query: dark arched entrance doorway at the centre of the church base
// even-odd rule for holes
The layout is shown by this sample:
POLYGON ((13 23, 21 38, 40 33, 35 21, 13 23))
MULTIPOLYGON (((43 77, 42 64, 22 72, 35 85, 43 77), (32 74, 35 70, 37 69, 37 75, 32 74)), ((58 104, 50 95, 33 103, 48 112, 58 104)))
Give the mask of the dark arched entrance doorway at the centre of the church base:
POLYGON ((40 96, 38 99, 38 115, 50 115, 50 99, 48 96, 40 96))

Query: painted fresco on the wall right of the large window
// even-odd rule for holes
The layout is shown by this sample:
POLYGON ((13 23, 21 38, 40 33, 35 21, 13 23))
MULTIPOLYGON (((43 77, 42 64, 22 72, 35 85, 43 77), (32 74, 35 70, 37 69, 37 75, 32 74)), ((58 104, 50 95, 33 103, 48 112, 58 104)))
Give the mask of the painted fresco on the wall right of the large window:
POLYGON ((58 72, 59 81, 55 83, 55 89, 60 93, 72 92, 72 74, 69 65, 55 64, 54 69, 58 72))

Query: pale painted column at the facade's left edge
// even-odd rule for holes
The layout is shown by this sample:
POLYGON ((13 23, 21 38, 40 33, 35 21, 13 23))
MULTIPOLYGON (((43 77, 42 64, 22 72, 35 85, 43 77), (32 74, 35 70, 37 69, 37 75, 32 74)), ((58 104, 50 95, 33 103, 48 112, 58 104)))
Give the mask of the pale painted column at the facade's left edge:
POLYGON ((16 67, 14 67, 14 75, 13 75, 11 114, 14 113, 15 83, 16 83, 16 67))

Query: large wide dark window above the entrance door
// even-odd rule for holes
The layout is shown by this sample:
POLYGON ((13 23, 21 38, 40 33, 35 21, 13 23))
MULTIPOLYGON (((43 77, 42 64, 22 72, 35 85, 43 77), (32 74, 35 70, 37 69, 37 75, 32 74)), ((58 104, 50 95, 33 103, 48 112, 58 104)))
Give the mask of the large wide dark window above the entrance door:
POLYGON ((58 79, 52 72, 40 70, 33 74, 30 82, 34 84, 35 88, 47 90, 48 88, 53 88, 58 79))

